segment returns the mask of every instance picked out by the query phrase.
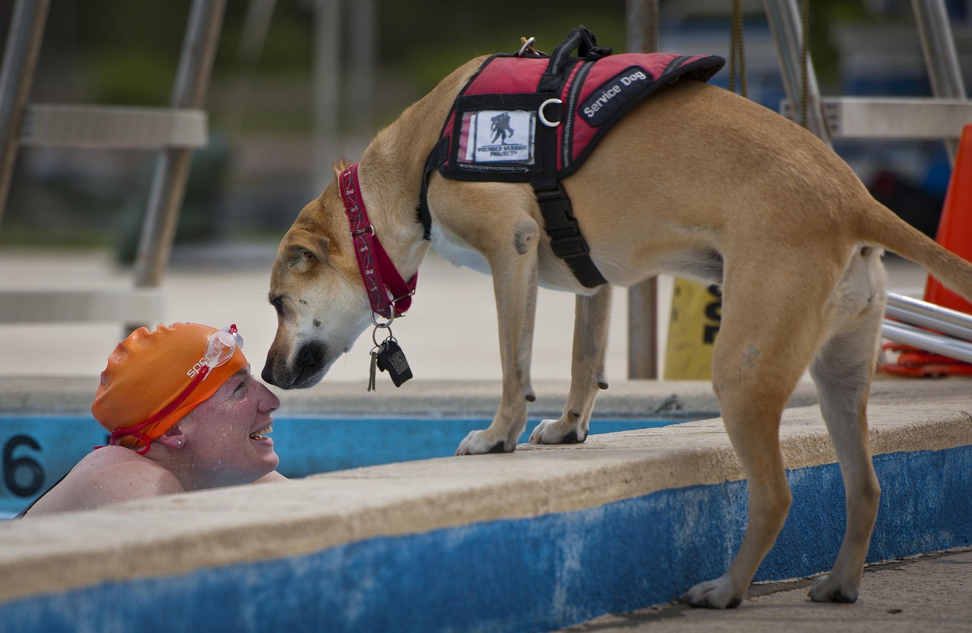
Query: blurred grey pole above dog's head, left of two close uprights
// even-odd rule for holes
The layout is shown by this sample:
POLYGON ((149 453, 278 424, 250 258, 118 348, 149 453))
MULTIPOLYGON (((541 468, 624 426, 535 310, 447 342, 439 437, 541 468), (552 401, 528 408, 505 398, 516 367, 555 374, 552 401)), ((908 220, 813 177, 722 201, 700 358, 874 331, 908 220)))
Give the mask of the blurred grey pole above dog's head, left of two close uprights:
POLYGON ((340 100, 341 0, 317 0, 314 12, 314 190, 315 198, 334 178, 340 158, 337 120, 340 100))

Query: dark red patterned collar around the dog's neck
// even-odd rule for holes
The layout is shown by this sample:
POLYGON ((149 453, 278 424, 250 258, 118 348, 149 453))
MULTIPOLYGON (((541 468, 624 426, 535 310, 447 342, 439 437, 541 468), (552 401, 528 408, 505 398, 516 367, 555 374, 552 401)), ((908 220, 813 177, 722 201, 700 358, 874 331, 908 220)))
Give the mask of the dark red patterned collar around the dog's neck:
POLYGON ((419 274, 415 273, 406 283, 375 236, 374 226, 364 211, 364 199, 358 183, 358 163, 341 172, 337 185, 351 224, 351 242, 358 256, 358 269, 371 303, 371 312, 385 318, 404 315, 412 305, 419 274))

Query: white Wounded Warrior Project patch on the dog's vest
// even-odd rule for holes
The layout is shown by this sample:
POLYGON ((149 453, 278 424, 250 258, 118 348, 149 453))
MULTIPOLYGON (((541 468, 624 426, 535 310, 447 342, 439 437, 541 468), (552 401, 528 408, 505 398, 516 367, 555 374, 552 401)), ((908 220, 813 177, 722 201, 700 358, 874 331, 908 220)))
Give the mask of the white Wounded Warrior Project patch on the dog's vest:
POLYGON ((517 162, 534 164, 534 127, 537 113, 527 110, 480 110, 463 117, 467 163, 517 162))

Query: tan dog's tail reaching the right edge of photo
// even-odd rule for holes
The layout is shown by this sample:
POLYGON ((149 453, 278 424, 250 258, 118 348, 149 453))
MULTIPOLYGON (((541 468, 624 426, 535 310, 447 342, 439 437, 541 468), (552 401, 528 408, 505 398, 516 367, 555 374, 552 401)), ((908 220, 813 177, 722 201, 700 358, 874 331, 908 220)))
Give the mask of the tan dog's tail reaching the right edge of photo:
POLYGON ((972 301, 972 263, 929 239, 874 198, 869 198, 868 208, 859 219, 862 240, 920 264, 938 281, 972 301))

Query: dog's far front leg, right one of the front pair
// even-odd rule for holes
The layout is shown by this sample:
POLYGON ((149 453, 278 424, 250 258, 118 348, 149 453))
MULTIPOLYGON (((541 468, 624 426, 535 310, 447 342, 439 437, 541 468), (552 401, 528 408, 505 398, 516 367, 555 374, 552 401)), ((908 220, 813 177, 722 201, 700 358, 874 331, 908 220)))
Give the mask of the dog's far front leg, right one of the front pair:
POLYGON ((576 444, 587 439, 598 388, 607 389, 605 352, 608 349, 611 286, 602 285, 590 297, 577 295, 573 317, 571 391, 560 419, 544 419, 530 441, 534 444, 576 444))

